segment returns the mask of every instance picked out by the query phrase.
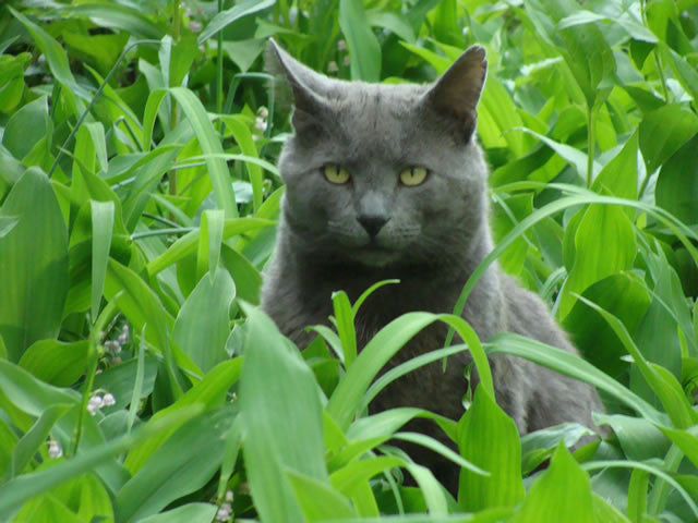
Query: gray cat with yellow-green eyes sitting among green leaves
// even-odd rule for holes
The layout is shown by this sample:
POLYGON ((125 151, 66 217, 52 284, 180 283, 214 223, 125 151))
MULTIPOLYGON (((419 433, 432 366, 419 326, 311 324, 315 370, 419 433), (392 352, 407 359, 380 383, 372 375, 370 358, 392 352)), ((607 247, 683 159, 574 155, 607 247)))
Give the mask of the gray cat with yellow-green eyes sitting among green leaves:
MULTIPOLYGON (((356 300, 380 280, 357 317, 358 346, 411 311, 449 313, 474 268, 492 251, 488 168, 476 139, 476 106, 485 78, 484 49, 469 48, 431 85, 330 80, 274 41, 269 69, 290 83, 292 125, 279 159, 287 184, 275 255, 262 307, 300 348, 304 327, 327 324, 333 291, 356 300)), ((481 340, 517 332, 576 353, 544 303, 490 266, 462 317, 481 340)), ((388 368, 443 346, 434 325, 412 339, 388 368)), ((422 367, 384 390, 372 412, 418 406, 452 419, 464 413, 466 354, 422 367)), ((491 357, 496 398, 520 434, 578 422, 595 428, 594 389, 525 360, 491 357)), ((477 380, 477 378, 476 378, 477 380)), ((440 439, 430 423, 418 429, 440 439)), ((457 489, 456 465, 421 449, 410 455, 457 489)))

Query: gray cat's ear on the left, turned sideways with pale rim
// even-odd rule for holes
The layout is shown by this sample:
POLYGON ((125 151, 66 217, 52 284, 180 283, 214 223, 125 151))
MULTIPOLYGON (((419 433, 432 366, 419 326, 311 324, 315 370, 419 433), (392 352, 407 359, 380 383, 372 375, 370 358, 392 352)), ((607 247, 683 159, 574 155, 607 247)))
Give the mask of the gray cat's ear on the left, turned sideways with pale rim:
POLYGON ((265 54, 266 69, 272 74, 285 77, 293 95, 293 117, 291 123, 296 131, 317 125, 321 117, 327 112, 323 99, 327 80, 306 68, 281 49, 274 38, 269 38, 265 54))

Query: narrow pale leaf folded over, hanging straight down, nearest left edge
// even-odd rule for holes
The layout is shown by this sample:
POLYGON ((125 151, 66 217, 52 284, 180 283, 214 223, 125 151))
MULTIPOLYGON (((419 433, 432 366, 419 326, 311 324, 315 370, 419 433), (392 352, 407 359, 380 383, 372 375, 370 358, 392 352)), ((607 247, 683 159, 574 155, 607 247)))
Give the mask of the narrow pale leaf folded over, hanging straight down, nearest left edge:
POLYGON ((92 305, 93 321, 97 319, 105 288, 107 262, 113 232, 113 202, 91 202, 92 206, 92 305))

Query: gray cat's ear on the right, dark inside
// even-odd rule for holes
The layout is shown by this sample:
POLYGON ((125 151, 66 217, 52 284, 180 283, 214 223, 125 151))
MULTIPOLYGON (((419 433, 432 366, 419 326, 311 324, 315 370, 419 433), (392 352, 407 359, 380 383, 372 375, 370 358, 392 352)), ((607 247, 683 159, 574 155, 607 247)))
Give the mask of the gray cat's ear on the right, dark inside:
POLYGON ((449 117, 466 141, 478 121, 476 108, 488 72, 484 57, 482 47, 469 47, 424 95, 425 104, 438 115, 449 117))

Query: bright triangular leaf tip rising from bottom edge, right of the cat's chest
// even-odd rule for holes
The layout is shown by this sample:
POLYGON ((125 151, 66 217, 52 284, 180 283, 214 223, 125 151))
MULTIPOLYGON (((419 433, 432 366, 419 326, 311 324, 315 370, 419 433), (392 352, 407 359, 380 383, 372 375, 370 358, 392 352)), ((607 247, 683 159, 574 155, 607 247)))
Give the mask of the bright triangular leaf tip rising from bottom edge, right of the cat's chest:
POLYGON ((564 443, 559 443, 550 467, 531 486, 512 521, 594 522, 589 476, 564 443))

